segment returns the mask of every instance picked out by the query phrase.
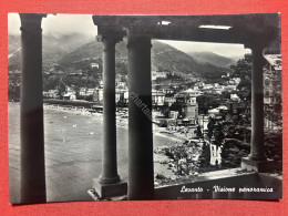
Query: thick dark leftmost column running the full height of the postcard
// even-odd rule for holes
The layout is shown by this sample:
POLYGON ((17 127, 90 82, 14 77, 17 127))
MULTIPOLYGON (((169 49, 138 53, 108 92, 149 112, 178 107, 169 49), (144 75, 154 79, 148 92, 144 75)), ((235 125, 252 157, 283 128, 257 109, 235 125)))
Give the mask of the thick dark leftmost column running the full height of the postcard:
POLYGON ((20 13, 21 73, 21 203, 43 203, 45 194, 42 101, 42 29, 44 14, 20 13))

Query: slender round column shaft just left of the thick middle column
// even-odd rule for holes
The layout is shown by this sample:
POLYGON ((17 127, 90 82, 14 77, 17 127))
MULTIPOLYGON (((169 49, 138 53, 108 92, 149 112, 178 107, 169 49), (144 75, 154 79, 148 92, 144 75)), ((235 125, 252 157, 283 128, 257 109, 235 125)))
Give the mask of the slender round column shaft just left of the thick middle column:
POLYGON ((115 105, 115 40, 103 43, 103 152, 101 183, 117 183, 116 105, 115 105))

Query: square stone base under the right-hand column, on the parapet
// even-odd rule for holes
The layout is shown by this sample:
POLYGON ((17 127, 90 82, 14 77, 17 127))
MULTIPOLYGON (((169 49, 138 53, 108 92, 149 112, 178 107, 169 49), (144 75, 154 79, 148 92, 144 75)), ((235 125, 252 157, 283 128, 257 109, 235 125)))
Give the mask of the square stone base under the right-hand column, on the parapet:
POLYGON ((249 157, 241 158, 241 168, 256 171, 257 173, 266 173, 275 171, 276 163, 272 160, 253 161, 249 157))

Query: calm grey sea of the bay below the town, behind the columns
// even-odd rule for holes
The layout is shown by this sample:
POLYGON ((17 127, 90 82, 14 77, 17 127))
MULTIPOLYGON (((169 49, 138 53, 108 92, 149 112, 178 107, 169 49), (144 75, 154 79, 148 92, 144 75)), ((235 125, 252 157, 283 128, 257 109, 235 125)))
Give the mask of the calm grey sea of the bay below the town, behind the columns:
MULTIPOLYGON (((9 102, 9 184, 10 203, 20 195, 20 103, 9 102)), ((101 175, 103 119, 84 110, 63 110, 44 105, 45 179, 48 202, 91 200, 88 191, 101 175)), ((116 127, 117 169, 127 181, 128 130, 123 122, 116 127)), ((177 141, 153 134, 154 148, 177 141)), ((155 158, 154 158, 155 161, 155 158)), ((154 164, 154 173, 163 169, 154 164)), ((167 174, 167 173, 166 173, 167 174)))

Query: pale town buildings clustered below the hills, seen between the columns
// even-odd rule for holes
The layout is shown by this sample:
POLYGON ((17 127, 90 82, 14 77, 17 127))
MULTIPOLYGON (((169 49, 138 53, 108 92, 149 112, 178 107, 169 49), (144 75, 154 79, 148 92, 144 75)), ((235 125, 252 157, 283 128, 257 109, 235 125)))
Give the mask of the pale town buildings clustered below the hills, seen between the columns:
MULTIPOLYGON (((249 55, 247 54, 247 58, 249 55)), ((265 126, 277 128, 281 125, 281 55, 266 55, 266 66, 264 68, 265 80, 265 126)), ((56 68, 56 65, 55 65, 56 68)), ((100 64, 90 63, 91 71, 99 74, 100 64)), ((10 74, 17 74, 10 72, 10 74)), ((45 72, 45 75, 63 74, 55 70, 45 72)), ((227 121, 233 116, 246 117, 249 123, 250 95, 249 76, 232 75, 229 72, 222 75, 220 83, 205 83, 200 79, 192 79, 188 84, 179 85, 177 80, 171 84, 162 84, 163 80, 173 76, 174 73, 163 71, 152 71, 152 104, 154 123, 166 127, 167 133, 175 131, 175 126, 186 126, 185 136, 188 138, 197 137, 197 127, 202 133, 208 132, 208 122, 213 117, 216 121, 227 121), (243 81, 243 82, 241 82, 243 81), (248 84, 243 84, 248 82, 248 84)), ((82 70, 69 73, 70 78, 82 79, 86 76, 82 70)), ((101 78, 101 75, 100 75, 101 78)), ((122 116, 127 117, 125 107, 128 104, 127 75, 117 74, 115 81, 115 102, 122 116), (122 109, 121 109, 122 107, 122 109)), ((79 85, 68 85, 60 79, 60 86, 43 91, 45 102, 53 100, 63 101, 90 101, 91 112, 101 112, 103 102, 103 81, 100 79, 97 86, 80 88, 79 85)), ((185 83, 185 82, 184 82, 185 83)), ((73 104, 73 103, 72 103, 73 104)), ((81 103, 80 103, 81 104, 81 103)))

